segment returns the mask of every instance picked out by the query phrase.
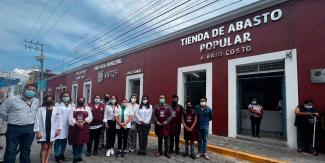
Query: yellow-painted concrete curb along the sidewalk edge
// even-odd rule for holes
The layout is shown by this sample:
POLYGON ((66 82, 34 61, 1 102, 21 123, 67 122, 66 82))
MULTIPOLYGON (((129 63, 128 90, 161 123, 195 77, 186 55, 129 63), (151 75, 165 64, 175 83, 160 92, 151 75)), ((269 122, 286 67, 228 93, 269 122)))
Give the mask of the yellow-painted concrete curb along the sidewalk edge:
MULTIPOLYGON (((154 132, 149 132, 150 137, 157 137, 154 132)), ((181 144, 185 144, 184 139, 180 139, 181 144)), ((219 153, 226 156, 235 157, 241 160, 247 160, 251 162, 263 162, 263 163, 285 163, 285 161, 275 160, 268 157, 258 156, 252 153, 246 153, 242 151, 237 151, 229 148, 219 147, 216 145, 208 144, 208 150, 214 153, 219 153)))

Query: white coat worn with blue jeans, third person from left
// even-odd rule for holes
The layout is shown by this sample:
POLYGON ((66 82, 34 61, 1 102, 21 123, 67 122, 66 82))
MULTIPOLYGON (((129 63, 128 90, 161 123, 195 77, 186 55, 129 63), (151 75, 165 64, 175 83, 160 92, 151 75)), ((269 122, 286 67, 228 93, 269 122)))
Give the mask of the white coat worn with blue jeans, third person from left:
POLYGON ((68 137, 69 133, 69 114, 70 111, 75 108, 74 104, 69 104, 66 106, 63 102, 56 104, 58 108, 61 110, 61 116, 62 116, 62 130, 61 134, 59 135, 58 139, 66 139, 68 137))

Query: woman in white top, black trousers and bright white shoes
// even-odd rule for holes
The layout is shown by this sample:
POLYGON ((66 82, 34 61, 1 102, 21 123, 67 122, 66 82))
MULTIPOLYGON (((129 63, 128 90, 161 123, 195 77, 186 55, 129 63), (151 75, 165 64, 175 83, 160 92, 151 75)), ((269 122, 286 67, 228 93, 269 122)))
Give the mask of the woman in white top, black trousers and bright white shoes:
POLYGON ((109 157, 114 155, 114 144, 116 137, 116 122, 115 122, 115 111, 120 109, 120 105, 117 101, 117 96, 111 96, 111 105, 106 105, 104 112, 104 126, 106 128, 106 144, 107 152, 106 156, 109 157))

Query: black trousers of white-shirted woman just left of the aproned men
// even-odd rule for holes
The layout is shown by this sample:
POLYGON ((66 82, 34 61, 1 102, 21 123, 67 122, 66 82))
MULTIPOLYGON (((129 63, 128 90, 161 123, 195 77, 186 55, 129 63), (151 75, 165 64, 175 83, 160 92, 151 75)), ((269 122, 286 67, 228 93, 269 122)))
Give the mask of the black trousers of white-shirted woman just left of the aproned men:
POLYGON ((139 152, 147 152, 150 127, 151 124, 137 124, 137 132, 139 135, 139 152))

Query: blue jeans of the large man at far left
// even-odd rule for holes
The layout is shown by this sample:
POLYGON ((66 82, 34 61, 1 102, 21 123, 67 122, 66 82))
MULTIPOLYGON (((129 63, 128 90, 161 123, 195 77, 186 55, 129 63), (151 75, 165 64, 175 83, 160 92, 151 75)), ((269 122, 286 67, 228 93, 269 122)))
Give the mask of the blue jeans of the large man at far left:
POLYGON ((5 163, 15 163, 17 147, 19 145, 19 160, 21 163, 30 163, 30 147, 34 140, 34 125, 10 125, 6 132, 5 163))

